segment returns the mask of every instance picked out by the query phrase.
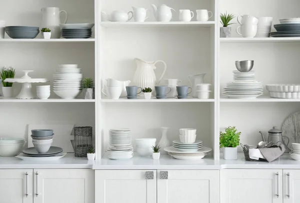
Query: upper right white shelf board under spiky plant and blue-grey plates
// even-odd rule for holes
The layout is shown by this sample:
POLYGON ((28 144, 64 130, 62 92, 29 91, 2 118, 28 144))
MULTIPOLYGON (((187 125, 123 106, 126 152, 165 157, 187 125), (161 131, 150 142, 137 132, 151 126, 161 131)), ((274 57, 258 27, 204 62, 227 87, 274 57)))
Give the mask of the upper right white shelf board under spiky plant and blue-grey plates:
POLYGON ((219 38, 221 43, 267 43, 267 42, 300 42, 300 37, 232 37, 219 38))

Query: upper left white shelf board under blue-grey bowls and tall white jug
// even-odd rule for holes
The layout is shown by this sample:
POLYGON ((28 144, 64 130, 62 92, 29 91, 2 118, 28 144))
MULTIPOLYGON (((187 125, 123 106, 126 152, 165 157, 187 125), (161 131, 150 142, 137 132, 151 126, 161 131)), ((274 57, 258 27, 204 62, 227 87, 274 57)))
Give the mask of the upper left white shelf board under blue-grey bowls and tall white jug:
POLYGON ((0 42, 94 42, 94 38, 89 39, 0 39, 0 42))

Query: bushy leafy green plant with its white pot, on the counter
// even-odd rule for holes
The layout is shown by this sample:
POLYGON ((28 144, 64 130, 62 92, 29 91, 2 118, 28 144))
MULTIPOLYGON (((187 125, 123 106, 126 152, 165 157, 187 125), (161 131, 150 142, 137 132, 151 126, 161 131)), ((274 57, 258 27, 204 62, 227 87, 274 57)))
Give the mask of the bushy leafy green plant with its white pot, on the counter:
POLYGON ((220 132, 220 148, 223 150, 223 158, 226 160, 237 159, 237 146, 239 145, 239 135, 236 128, 228 126, 225 132, 220 132))

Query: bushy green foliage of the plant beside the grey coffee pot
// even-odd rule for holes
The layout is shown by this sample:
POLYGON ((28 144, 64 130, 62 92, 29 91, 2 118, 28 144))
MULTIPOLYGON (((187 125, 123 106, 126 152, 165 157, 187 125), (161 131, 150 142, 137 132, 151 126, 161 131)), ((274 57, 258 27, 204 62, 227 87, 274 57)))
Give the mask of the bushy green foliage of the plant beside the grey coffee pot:
POLYGON ((237 147, 239 145, 239 135, 236 128, 228 126, 225 132, 220 132, 220 148, 222 147, 237 147))

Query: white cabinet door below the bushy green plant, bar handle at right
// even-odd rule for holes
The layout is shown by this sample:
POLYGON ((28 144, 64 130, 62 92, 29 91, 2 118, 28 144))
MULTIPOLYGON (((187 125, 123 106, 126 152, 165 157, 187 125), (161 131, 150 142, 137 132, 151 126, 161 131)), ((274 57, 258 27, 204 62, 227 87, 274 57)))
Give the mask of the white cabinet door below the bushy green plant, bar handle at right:
POLYGON ((282 203, 282 170, 220 171, 220 203, 282 203))

